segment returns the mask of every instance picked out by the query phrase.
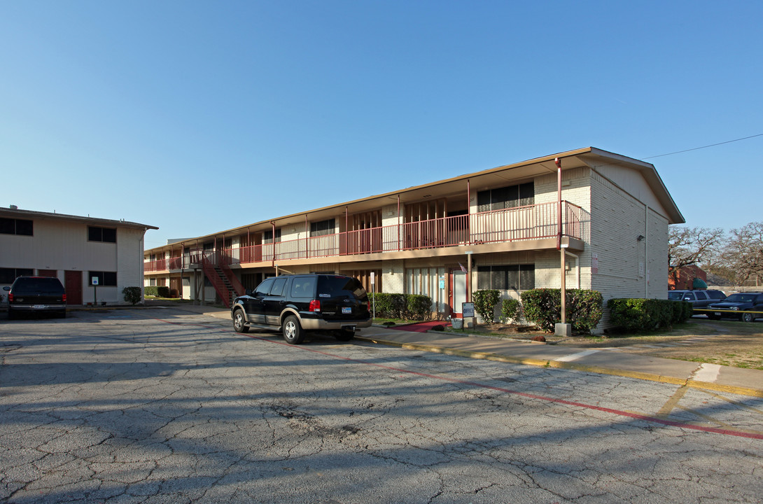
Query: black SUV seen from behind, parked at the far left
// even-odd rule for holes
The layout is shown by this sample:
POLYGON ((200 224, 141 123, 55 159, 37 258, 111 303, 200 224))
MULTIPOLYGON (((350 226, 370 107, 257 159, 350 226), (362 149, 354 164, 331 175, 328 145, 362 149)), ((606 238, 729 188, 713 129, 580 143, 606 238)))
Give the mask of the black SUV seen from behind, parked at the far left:
POLYGON ((8 319, 21 313, 53 313, 66 316, 66 291, 58 278, 18 277, 8 291, 8 319))

